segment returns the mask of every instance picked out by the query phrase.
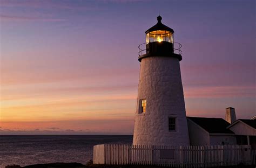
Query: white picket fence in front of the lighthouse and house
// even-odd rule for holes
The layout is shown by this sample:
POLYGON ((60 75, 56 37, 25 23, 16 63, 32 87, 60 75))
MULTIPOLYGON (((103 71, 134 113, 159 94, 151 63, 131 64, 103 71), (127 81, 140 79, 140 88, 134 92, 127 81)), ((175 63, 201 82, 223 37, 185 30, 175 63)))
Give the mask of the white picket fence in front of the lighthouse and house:
POLYGON ((93 146, 94 164, 139 164, 173 167, 256 164, 250 145, 160 146, 102 144, 93 146))

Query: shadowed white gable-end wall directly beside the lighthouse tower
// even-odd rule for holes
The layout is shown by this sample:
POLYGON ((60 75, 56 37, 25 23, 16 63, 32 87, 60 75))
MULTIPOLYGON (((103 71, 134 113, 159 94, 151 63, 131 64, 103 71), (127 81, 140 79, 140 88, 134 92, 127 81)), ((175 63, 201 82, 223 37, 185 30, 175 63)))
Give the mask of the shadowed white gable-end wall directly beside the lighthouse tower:
POLYGON ((190 145, 210 145, 210 136, 207 131, 190 119, 187 119, 190 145))

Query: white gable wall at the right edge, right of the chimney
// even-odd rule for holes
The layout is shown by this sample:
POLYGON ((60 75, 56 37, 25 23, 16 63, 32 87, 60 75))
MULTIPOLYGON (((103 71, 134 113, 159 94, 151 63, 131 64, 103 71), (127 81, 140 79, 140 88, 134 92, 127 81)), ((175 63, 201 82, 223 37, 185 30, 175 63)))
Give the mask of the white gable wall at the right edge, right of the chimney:
POLYGON ((238 122, 232 127, 229 128, 231 131, 235 133, 235 135, 252 135, 256 136, 256 129, 253 129, 252 127, 249 127, 247 124, 244 124, 242 122, 238 122))

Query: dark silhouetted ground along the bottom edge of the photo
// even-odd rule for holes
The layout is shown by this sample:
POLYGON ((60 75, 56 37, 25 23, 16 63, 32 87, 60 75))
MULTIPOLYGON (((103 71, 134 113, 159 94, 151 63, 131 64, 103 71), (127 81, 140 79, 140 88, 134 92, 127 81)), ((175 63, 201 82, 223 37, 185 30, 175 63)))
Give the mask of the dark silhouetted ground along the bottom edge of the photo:
MULTIPOLYGON (((80 163, 49 163, 24 166, 23 168, 161 168, 164 166, 149 166, 149 165, 95 165, 91 162, 86 165, 80 163)), ((220 167, 220 166, 218 166, 220 167)), ((221 166, 221 168, 255 168, 255 165, 237 165, 237 166, 221 166)), ((5 168, 21 168, 18 165, 9 165, 5 168)))

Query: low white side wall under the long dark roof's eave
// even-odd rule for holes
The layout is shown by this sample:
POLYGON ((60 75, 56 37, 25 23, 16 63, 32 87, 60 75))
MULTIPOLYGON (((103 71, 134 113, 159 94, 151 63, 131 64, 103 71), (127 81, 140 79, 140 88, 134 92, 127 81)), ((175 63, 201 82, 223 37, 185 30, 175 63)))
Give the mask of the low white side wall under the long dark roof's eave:
POLYGON ((230 135, 210 135, 210 145, 222 145, 222 142, 225 145, 236 145, 237 139, 230 135))

